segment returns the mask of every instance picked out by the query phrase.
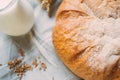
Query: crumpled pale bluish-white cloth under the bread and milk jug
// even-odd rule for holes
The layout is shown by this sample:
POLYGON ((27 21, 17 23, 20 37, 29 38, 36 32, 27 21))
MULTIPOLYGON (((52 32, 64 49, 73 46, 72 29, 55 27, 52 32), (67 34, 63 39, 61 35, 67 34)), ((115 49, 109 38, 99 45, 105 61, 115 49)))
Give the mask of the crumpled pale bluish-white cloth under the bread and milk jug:
POLYGON ((17 75, 7 67, 7 62, 15 57, 20 58, 17 47, 25 52, 25 62, 31 64, 40 56, 40 61, 47 65, 46 71, 38 68, 28 71, 22 80, 81 80, 75 76, 59 59, 52 44, 52 29, 55 24, 55 12, 61 0, 54 5, 54 13, 51 18, 47 12, 41 9, 36 0, 29 0, 34 8, 35 24, 32 29, 34 35, 30 34, 20 37, 11 37, 0 33, 0 80, 19 80, 17 75))

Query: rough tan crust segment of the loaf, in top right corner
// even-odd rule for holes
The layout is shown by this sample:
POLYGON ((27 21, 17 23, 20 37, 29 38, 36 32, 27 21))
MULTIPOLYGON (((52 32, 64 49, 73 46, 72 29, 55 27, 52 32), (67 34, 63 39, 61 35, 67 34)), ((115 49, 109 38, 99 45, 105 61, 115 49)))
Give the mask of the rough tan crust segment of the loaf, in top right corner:
POLYGON ((83 0, 99 18, 120 18, 120 0, 83 0))

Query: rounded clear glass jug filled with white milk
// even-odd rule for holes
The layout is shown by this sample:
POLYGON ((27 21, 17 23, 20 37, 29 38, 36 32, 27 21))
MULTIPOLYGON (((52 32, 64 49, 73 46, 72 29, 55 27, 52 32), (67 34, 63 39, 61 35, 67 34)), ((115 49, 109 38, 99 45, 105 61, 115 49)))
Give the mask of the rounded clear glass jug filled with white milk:
POLYGON ((33 9, 27 0, 0 0, 0 31, 24 35, 34 24, 33 9))

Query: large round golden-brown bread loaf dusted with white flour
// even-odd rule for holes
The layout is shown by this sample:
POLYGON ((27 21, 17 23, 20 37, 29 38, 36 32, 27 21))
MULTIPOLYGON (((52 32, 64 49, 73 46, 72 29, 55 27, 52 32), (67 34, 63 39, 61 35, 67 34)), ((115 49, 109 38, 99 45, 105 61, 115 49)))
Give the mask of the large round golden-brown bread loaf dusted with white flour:
POLYGON ((85 80, 120 80, 120 0, 63 0, 53 44, 85 80))

